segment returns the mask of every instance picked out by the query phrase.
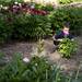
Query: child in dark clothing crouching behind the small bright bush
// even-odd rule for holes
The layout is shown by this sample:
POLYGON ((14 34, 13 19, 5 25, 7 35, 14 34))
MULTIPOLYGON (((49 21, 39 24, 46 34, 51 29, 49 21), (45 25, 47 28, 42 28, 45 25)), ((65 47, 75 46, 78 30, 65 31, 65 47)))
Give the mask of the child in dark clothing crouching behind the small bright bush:
POLYGON ((66 23, 63 25, 63 28, 54 36, 54 45, 58 46, 60 42, 62 42, 62 38, 69 38, 73 40, 73 36, 69 32, 69 23, 66 23))

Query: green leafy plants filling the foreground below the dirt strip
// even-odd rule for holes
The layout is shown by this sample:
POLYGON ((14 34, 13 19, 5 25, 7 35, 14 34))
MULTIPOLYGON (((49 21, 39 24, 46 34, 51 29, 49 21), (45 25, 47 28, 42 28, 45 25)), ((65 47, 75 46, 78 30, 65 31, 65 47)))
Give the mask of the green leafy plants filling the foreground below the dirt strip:
POLYGON ((80 78, 79 70, 77 75, 66 75, 59 66, 44 57, 35 56, 25 62, 21 54, 14 54, 10 62, 0 68, 0 82, 81 82, 80 78))

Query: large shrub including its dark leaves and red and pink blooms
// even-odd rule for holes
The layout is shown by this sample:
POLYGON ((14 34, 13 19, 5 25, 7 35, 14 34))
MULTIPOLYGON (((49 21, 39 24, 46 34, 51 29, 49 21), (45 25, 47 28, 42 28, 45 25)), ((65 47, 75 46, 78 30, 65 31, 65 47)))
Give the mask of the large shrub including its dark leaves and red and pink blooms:
POLYGON ((1 20, 2 27, 9 30, 4 33, 1 31, 0 42, 5 42, 9 38, 19 39, 37 39, 49 35, 51 33, 51 25, 47 17, 47 12, 44 10, 36 10, 26 3, 11 4, 7 7, 1 5, 1 14, 4 21, 1 20), (5 24, 4 24, 5 23, 5 24))

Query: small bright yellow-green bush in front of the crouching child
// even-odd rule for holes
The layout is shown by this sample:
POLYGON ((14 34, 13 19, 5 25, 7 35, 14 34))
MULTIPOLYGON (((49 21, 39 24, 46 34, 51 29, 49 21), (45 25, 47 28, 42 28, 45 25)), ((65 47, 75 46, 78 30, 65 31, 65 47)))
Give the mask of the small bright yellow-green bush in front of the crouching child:
POLYGON ((78 44, 74 40, 69 38, 63 38, 62 42, 59 44, 58 51, 65 58, 70 58, 73 52, 77 51, 78 44))

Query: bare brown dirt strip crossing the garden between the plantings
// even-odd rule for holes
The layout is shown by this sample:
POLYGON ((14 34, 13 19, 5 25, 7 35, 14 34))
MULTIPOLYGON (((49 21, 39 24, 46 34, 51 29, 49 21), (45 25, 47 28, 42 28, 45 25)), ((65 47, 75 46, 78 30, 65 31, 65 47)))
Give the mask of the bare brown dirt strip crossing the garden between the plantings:
MULTIPOLYGON (((79 42, 80 48, 78 54, 72 56, 70 59, 61 58, 57 51, 51 52, 54 48, 52 40, 46 39, 45 50, 47 51, 48 59, 54 63, 58 63, 60 68, 63 69, 65 71, 77 70, 79 63, 82 65, 82 37, 78 37, 77 39, 79 42)), ((12 57, 14 52, 21 52, 23 54, 24 57, 30 58, 33 47, 35 46, 36 43, 27 43, 27 42, 13 43, 1 47, 0 51, 4 52, 8 58, 12 57)))

